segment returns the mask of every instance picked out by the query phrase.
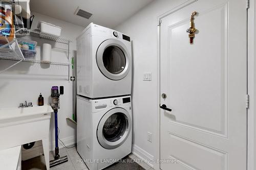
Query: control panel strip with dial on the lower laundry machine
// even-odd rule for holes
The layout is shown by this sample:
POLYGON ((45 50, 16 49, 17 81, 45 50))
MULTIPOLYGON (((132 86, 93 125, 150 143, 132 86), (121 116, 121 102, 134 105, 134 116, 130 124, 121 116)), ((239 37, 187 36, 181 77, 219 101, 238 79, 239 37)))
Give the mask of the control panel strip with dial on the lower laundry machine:
POLYGON ((93 112, 100 111, 103 109, 111 109, 115 107, 127 107, 127 106, 132 106, 131 96, 92 100, 93 112))

